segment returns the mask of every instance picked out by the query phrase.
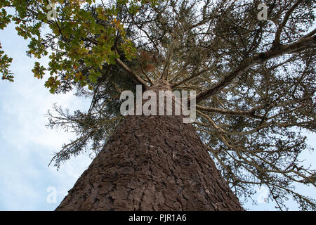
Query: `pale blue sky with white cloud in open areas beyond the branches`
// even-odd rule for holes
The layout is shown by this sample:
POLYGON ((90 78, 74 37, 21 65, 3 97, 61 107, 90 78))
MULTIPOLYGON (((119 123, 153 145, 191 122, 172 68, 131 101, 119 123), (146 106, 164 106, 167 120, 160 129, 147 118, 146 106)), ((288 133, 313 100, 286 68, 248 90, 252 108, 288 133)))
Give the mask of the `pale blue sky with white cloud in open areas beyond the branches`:
MULTIPOLYGON (((11 71, 15 82, 0 80, 0 210, 55 210, 67 191, 74 186, 79 176, 88 168, 92 159, 79 155, 63 164, 57 171, 48 167, 53 153, 63 143, 74 139, 74 134, 60 129, 48 129, 48 118, 44 115, 53 103, 74 110, 88 110, 89 101, 73 93, 53 95, 44 87, 43 80, 34 78, 34 58, 26 56, 28 41, 18 37, 13 25, 0 30, 1 46, 13 58, 11 71), (52 191, 53 190, 53 191, 52 191), (56 191, 57 198, 51 198, 56 191)), ((41 63, 47 61, 41 60, 41 63)), ((46 78, 46 79, 45 79, 46 78)), ((308 134, 308 143, 315 148, 315 134, 308 134)), ((305 165, 316 165, 316 153, 306 151, 301 160, 305 165)), ((316 198, 315 188, 297 186, 301 193, 316 198)), ((261 199, 265 190, 254 199, 261 199)), ((251 201, 247 210, 275 210, 273 203, 251 201)), ((298 210, 294 201, 287 203, 289 210, 298 210)))

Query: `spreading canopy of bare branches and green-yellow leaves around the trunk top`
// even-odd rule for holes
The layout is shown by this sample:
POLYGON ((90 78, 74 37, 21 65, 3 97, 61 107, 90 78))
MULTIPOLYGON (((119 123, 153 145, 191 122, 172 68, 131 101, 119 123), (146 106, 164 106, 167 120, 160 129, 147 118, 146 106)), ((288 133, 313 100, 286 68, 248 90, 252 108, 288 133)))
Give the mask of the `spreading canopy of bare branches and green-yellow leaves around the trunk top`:
MULTIPOLYGON (((299 161, 312 150, 304 132, 316 129, 315 1, 264 1, 268 20, 258 20, 257 0, 58 0, 48 20, 51 3, 2 0, 0 28, 14 22, 27 54, 49 57, 32 72, 52 94, 74 89, 91 101, 86 112, 48 113, 48 127, 78 136, 55 166, 98 154, 122 118, 121 91, 164 79, 197 91, 195 129, 239 198, 265 186, 280 210, 289 196, 315 210, 294 188, 316 181, 299 161)), ((2 79, 13 82, 11 62, 0 50, 2 79)))

